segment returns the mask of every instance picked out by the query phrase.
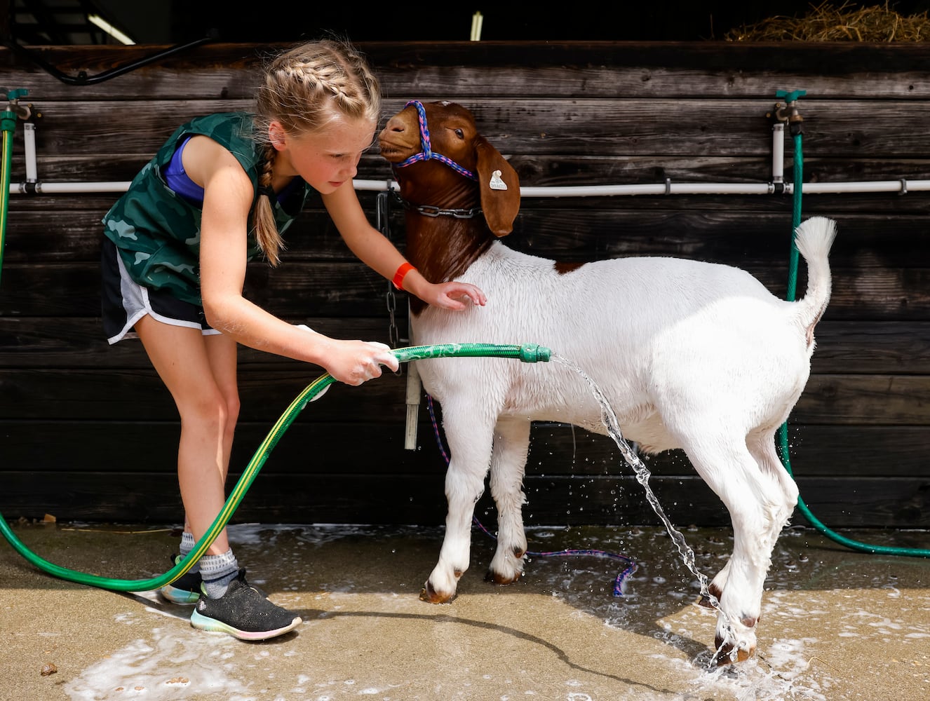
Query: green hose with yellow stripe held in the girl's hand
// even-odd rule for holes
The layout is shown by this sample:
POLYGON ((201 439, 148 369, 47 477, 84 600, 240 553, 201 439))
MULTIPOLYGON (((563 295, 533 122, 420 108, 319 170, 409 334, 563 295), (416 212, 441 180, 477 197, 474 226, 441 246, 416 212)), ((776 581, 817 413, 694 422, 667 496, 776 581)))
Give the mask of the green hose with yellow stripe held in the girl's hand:
MULTIPOLYGON (((395 349, 392 350, 392 352, 399 363, 424 360, 427 358, 463 357, 515 358, 524 363, 538 363, 549 361, 551 356, 551 350, 535 344, 512 346, 493 343, 448 343, 434 346, 412 346, 410 348, 395 349)), ((312 402, 314 398, 317 398, 320 392, 326 390, 326 388, 335 381, 336 379, 328 373, 326 373, 326 375, 321 375, 313 380, 313 382, 301 391, 297 398, 290 403, 285 413, 278 418, 277 422, 272 426, 272 430, 265 436, 265 440, 259 445, 259 449, 255 452, 255 455, 249 460, 246 470, 243 471, 242 476, 235 484, 232 493, 229 498, 227 498, 223 508, 220 509, 216 520, 206 531, 206 534, 197 541, 193 550, 191 550, 183 560, 178 562, 164 575, 152 577, 151 579, 111 579, 110 577, 70 570, 67 567, 48 562, 36 555, 32 550, 26 548, 26 546, 22 544, 22 541, 12 532, 3 514, 0 514, 0 531, 3 532, 9 544, 13 546, 20 555, 49 575, 55 575, 61 579, 67 579, 72 582, 77 582, 78 584, 86 584, 91 587, 111 589, 113 591, 152 591, 153 589, 161 589, 179 576, 184 575, 191 569, 193 563, 197 562, 201 556, 206 553, 206 549, 216 540, 219 533, 233 517, 235 509, 239 507, 239 503, 242 501, 243 497, 246 496, 248 488, 255 481, 256 476, 259 474, 259 470, 261 470, 262 465, 265 464, 265 460, 271 454, 281 436, 284 435, 285 431, 294 422, 294 419, 303 410, 303 407, 306 406, 307 403, 312 402)))

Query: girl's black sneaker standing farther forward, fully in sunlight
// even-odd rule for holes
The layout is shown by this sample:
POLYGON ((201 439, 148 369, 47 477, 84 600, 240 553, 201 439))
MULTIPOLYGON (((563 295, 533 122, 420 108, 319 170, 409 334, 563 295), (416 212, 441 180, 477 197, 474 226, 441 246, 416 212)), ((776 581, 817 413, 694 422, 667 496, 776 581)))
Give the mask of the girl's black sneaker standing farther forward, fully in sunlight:
POLYGON ((297 628, 303 619, 268 601, 246 582, 246 570, 239 570, 229 589, 219 599, 206 592, 191 614, 191 625, 201 630, 229 633, 241 641, 263 641, 297 628))

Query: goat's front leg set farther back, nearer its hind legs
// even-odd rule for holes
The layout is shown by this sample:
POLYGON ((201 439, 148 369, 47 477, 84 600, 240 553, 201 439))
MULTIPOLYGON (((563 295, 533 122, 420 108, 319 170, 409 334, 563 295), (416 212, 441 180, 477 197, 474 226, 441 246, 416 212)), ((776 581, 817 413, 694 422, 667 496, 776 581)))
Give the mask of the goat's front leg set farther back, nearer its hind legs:
POLYGON ((512 584, 523 575, 526 531, 523 522, 523 491, 530 422, 501 419, 494 432, 491 456, 491 496, 498 507, 498 548, 485 579, 512 584))

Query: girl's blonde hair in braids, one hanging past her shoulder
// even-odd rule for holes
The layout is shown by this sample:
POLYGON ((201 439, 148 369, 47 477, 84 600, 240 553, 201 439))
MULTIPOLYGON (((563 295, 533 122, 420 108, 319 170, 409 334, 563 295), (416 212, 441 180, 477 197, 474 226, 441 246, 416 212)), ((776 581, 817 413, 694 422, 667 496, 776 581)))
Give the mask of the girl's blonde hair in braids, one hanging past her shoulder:
POLYGON ((378 79, 348 42, 321 39, 301 44, 267 66, 255 109, 256 139, 264 145, 255 229, 259 247, 272 265, 278 264, 284 242, 267 194, 277 153, 269 139, 271 123, 280 122, 287 134, 299 136, 323 128, 335 115, 377 124, 379 112, 378 79))

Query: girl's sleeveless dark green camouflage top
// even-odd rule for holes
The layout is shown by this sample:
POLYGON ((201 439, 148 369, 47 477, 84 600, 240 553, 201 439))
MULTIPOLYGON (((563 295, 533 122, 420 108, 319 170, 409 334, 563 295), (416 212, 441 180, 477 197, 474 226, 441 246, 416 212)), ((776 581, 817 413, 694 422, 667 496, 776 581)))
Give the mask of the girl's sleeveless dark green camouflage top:
MULTIPOLYGON (((187 135, 202 134, 233 153, 252 180, 258 199, 262 149, 252 139, 252 116, 246 112, 220 112, 197 117, 178 127, 153 159, 140 170, 129 189, 103 218, 104 235, 120 251, 126 270, 137 283, 164 289, 176 298, 201 306, 200 205, 171 190, 162 170, 187 135)), ((303 187, 286 201, 274 203, 278 231, 284 233, 298 217, 311 187, 303 187)), ((249 260, 259 256, 254 228, 248 231, 249 260)))

